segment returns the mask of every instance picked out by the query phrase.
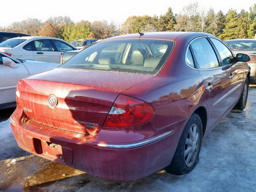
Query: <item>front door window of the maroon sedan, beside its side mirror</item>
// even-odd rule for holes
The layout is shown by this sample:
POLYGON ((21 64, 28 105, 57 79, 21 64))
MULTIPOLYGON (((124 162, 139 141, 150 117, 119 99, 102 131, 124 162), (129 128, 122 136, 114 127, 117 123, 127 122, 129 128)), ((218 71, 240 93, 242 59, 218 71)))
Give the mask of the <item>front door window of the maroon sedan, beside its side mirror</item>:
POLYGON ((232 64, 234 62, 234 58, 230 50, 228 50, 228 48, 219 40, 215 38, 211 38, 211 40, 220 54, 220 57, 222 59, 222 65, 232 64))

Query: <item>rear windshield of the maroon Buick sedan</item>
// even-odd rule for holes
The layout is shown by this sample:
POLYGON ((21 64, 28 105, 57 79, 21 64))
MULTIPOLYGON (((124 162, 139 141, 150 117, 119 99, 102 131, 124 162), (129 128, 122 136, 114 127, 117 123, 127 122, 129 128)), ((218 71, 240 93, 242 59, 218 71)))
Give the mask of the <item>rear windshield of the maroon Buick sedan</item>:
POLYGON ((169 40, 105 40, 79 52, 60 68, 157 74, 173 46, 169 40))

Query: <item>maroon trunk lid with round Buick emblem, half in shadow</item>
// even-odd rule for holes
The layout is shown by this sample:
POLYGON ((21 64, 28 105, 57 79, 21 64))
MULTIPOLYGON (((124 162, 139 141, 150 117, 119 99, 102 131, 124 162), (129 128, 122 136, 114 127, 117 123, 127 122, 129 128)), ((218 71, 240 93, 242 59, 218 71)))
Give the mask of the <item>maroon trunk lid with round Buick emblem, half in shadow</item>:
POLYGON ((56 68, 20 80, 17 104, 29 119, 56 128, 97 134, 118 94, 152 75, 56 68), (57 99, 55 108, 48 102, 57 99))

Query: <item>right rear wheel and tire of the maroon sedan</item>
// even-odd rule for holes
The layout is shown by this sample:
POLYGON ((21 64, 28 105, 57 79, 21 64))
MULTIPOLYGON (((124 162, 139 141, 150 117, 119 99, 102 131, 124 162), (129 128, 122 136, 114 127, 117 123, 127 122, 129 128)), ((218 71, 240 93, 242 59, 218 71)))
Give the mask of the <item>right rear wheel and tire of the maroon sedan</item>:
POLYGON ((199 153, 201 150, 202 138, 203 138, 202 120, 198 116, 198 114, 194 113, 188 120, 180 136, 180 141, 176 148, 174 157, 172 158, 172 162, 170 165, 168 165, 165 168, 166 172, 171 174, 176 174, 176 175, 182 175, 192 171, 199 161, 199 153), (196 139, 194 139, 194 136, 190 137, 191 134, 193 135, 194 128, 196 128, 196 136, 198 134, 198 142, 196 142, 196 139), (191 134, 190 134, 190 131, 191 131, 190 129, 192 130, 191 134), (187 139, 192 141, 192 144, 191 142, 188 142, 187 139), (188 153, 186 156, 185 156, 185 152, 191 149, 192 151, 194 151, 194 155, 192 152, 191 160, 188 160, 189 158, 188 156, 191 154, 191 152, 188 153))

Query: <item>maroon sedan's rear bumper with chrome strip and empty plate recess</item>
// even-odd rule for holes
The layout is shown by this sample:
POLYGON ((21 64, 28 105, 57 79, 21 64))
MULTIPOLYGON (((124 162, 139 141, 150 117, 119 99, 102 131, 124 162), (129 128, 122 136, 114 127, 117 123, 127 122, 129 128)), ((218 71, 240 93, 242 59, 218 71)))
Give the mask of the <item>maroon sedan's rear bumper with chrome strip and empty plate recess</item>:
MULTIPOLYGON (((10 124, 20 148, 112 180, 138 179, 168 166, 178 145, 181 127, 186 123, 184 120, 173 124, 165 132, 147 139, 106 143, 102 136, 92 138, 42 124, 39 126, 36 122, 22 122, 17 114, 16 111, 12 114, 10 124), (51 147, 51 143, 60 147, 51 147)), ((112 131, 112 134, 118 136, 118 131, 112 131)), ((132 134, 127 133, 127 136, 132 134)))

